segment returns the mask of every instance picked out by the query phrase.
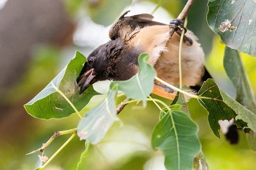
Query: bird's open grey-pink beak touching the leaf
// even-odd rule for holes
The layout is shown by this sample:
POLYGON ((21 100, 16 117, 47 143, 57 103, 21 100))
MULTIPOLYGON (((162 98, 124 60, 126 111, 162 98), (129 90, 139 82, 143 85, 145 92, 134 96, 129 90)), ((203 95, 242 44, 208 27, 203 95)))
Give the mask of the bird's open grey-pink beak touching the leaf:
POLYGON ((78 82, 78 86, 82 85, 82 87, 80 89, 79 94, 82 94, 82 92, 84 92, 84 90, 86 90, 90 86, 90 82, 96 76, 96 74, 92 75, 93 72, 94 72, 94 68, 88 70, 86 73, 80 76, 81 79, 78 82))

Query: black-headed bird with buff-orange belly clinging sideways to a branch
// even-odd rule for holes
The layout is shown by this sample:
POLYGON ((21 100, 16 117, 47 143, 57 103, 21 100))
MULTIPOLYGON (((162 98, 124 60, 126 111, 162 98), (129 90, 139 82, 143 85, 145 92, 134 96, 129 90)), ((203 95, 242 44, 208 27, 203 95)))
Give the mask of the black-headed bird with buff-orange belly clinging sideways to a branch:
MULTIPOLYGON (((148 63, 155 61, 157 76, 169 84, 179 84, 178 51, 182 20, 172 20, 169 24, 153 21, 151 14, 126 16, 124 12, 109 30, 110 40, 94 49, 77 78, 80 94, 90 85, 102 80, 128 80, 138 72, 138 56, 150 55, 148 63), (169 30, 175 32, 170 39, 169 30), (169 41, 170 39, 170 41, 169 41)), ((210 74, 204 67, 204 51, 197 37, 185 29, 182 42, 182 84, 197 93, 210 74)), ((154 82, 153 94, 173 100, 176 91, 154 82)))

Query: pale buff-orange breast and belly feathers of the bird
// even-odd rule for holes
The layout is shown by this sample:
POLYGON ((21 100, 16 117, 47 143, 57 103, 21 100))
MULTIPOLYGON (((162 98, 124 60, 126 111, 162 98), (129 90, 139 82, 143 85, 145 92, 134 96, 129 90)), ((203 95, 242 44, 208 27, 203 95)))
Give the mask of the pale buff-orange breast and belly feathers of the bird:
MULTIPOLYGON (((204 52, 191 31, 187 31, 186 36, 192 39, 193 44, 182 44, 182 84, 194 86, 200 82, 204 71, 204 52)), ((180 35, 174 33, 169 41, 168 25, 154 25, 140 29, 131 43, 134 48, 140 47, 143 52, 150 54, 150 64, 159 59, 154 65, 159 78, 172 85, 179 84, 180 35)), ((176 95, 175 92, 170 94, 157 86, 153 93, 169 99, 176 95)))

